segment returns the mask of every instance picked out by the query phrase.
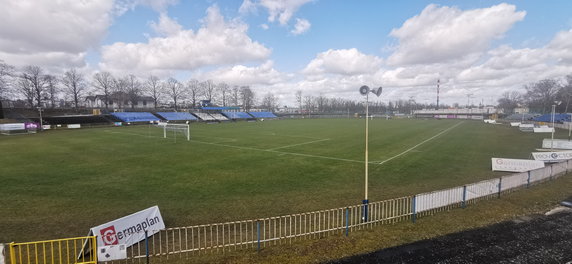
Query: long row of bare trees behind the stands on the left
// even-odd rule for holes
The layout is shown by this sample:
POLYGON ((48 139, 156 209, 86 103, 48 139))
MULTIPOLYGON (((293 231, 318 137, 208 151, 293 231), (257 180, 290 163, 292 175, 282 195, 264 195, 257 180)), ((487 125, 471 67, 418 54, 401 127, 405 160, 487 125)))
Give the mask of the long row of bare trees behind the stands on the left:
MULTIPOLYGON (((256 95, 249 86, 196 79, 182 82, 173 77, 161 79, 153 75, 147 78, 133 74, 114 76, 106 71, 85 76, 75 68, 53 75, 39 66, 18 69, 0 60, 0 99, 15 101, 20 98, 29 108, 77 109, 84 106, 87 96, 94 95, 102 98, 106 109, 112 106, 112 102, 120 108, 134 108, 144 96, 153 101, 152 108, 196 108, 201 100, 220 106, 240 106, 246 110, 257 106, 256 95)), ((264 96, 262 102, 263 106, 270 107, 278 104, 271 94, 264 96)))

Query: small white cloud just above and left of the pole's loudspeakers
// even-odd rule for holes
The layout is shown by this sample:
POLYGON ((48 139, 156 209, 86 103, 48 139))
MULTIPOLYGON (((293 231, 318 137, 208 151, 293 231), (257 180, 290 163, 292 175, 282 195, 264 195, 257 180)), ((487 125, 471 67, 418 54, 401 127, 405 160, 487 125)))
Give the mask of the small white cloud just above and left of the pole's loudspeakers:
POLYGON ((302 71, 308 75, 343 74, 356 75, 374 73, 379 70, 382 60, 365 55, 357 49, 327 50, 319 53, 302 71))

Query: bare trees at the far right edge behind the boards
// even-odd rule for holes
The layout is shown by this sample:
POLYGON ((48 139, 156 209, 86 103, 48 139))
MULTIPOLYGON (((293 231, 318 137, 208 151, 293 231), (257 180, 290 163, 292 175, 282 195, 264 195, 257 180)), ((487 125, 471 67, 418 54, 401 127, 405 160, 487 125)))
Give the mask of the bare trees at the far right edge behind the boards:
POLYGON ((498 100, 499 108, 513 113, 518 107, 528 107, 531 113, 550 113, 552 105, 558 113, 571 111, 572 74, 563 80, 543 79, 524 85, 524 92, 505 92, 498 100))

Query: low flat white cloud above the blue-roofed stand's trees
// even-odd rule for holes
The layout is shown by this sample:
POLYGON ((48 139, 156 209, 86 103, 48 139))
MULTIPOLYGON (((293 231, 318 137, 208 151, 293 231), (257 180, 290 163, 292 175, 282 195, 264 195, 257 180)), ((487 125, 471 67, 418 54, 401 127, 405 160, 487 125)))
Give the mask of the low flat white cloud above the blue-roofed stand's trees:
POLYGON ((235 65, 196 74, 194 77, 201 80, 212 79, 232 85, 272 85, 286 82, 291 77, 291 75, 281 73, 273 67, 274 62, 269 60, 256 67, 235 65))

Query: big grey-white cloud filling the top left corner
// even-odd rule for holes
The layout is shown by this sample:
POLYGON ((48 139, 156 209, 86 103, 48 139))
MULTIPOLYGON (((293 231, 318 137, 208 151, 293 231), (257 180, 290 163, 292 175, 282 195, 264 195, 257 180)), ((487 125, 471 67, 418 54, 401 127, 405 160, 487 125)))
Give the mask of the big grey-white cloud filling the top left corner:
POLYGON ((81 67, 111 24, 112 0, 2 1, 0 54, 14 65, 81 67))

